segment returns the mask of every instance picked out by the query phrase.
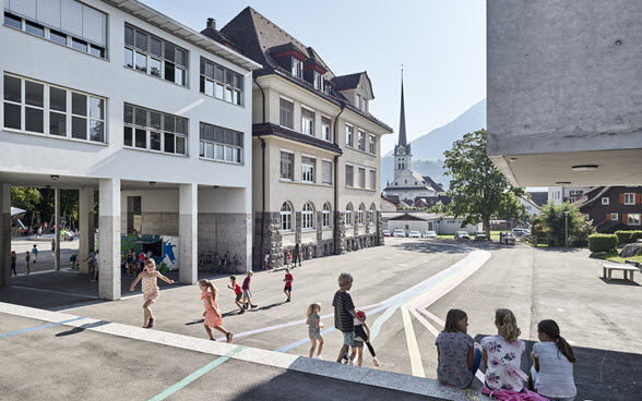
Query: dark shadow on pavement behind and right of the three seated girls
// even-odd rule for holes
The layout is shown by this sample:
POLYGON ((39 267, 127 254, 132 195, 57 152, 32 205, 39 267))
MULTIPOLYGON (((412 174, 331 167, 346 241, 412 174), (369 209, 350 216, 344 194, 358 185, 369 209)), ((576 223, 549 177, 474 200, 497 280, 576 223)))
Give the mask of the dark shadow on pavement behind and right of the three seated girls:
MULTIPOLYGON (((479 342, 484 335, 475 337, 479 342)), ((526 341, 526 351, 522 354, 522 370, 528 373, 533 361, 531 351, 535 341, 526 341)), ((639 400, 642 393, 642 354, 573 347, 578 362, 573 365, 573 375, 578 396, 575 400, 630 401, 639 400), (635 379, 638 377, 638 379, 635 379)), ((484 362, 479 366, 485 370, 484 362)))

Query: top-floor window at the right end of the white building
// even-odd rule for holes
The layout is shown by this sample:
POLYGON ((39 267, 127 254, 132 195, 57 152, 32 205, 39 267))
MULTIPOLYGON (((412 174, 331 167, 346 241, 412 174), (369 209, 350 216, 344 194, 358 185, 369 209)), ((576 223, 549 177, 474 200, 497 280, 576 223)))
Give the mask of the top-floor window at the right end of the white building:
POLYGON ((201 57, 202 94, 242 106, 243 76, 201 57))

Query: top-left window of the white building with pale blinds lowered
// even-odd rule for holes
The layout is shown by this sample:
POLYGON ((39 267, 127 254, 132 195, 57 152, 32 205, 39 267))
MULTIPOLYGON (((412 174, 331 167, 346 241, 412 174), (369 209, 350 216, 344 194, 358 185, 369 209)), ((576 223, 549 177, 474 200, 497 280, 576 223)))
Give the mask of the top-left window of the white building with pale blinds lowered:
POLYGON ((106 58, 107 14, 75 0, 5 1, 4 25, 106 58))

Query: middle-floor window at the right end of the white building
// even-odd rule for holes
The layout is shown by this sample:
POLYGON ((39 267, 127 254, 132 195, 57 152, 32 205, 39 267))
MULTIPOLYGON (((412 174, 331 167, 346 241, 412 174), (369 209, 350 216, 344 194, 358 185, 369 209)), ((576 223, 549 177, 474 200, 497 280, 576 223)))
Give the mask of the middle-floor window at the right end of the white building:
POLYGON ((199 155, 205 159, 243 162, 243 133, 202 122, 199 155))

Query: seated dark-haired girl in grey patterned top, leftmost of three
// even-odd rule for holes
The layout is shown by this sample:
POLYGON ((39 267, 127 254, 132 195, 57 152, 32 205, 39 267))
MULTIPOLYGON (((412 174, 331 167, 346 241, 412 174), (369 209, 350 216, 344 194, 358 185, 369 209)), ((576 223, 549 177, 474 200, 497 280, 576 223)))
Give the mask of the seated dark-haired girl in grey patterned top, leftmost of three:
POLYGON ((437 336, 437 378, 447 386, 468 387, 482 362, 482 351, 467 335, 468 316, 462 309, 450 309, 443 331, 437 336))

